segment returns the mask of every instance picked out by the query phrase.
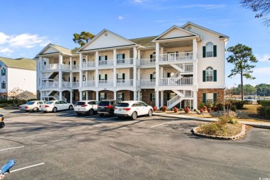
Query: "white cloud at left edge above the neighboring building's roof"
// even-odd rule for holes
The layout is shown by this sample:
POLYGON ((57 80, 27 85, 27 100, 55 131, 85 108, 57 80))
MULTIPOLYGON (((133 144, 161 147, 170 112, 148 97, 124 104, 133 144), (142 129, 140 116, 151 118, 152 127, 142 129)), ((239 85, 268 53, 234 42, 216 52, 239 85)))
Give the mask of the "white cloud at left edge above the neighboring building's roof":
POLYGON ((48 43, 48 37, 39 37, 39 35, 30 35, 28 33, 6 35, 0 32, 0 53, 4 55, 11 55, 20 48, 46 46, 48 43))

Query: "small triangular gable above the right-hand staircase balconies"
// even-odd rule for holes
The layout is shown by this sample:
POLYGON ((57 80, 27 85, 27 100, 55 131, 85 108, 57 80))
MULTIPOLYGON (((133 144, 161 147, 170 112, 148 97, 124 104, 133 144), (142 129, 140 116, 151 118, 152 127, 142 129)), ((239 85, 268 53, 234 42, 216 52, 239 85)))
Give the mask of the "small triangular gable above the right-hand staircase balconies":
POLYGON ((196 33, 192 33, 186 29, 180 28, 179 26, 172 26, 168 30, 166 30, 164 33, 153 39, 152 42, 156 42, 163 39, 173 39, 173 38, 183 38, 183 37, 197 37, 200 38, 199 35, 196 33), (173 35, 168 35, 172 30, 177 30, 177 33, 174 33, 173 35))

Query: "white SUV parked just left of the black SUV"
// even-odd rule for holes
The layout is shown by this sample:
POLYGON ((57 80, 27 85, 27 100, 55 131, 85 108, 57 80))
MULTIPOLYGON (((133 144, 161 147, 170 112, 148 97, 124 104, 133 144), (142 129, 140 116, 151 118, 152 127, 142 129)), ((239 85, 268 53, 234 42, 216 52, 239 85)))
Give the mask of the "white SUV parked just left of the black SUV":
POLYGON ((98 111, 98 103, 99 101, 97 100, 80 100, 76 102, 74 112, 78 116, 82 114, 93 115, 94 112, 98 111))

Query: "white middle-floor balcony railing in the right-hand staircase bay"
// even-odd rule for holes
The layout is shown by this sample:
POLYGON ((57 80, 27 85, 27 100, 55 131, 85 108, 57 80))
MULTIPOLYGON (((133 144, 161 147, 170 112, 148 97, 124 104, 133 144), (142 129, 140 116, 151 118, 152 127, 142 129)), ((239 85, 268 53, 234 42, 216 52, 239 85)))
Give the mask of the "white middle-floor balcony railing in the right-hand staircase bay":
POLYGON ((193 77, 189 78, 159 78, 159 86, 190 86, 193 77))

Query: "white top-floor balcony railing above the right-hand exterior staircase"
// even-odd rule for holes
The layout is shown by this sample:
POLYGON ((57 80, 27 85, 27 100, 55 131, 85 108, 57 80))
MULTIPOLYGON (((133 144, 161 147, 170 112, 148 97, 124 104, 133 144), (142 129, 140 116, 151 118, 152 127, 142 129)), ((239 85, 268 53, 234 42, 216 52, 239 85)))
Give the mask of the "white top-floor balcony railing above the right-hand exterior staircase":
POLYGON ((159 61, 181 61, 181 60, 193 60, 193 52, 185 52, 185 53, 167 53, 160 54, 159 61))

